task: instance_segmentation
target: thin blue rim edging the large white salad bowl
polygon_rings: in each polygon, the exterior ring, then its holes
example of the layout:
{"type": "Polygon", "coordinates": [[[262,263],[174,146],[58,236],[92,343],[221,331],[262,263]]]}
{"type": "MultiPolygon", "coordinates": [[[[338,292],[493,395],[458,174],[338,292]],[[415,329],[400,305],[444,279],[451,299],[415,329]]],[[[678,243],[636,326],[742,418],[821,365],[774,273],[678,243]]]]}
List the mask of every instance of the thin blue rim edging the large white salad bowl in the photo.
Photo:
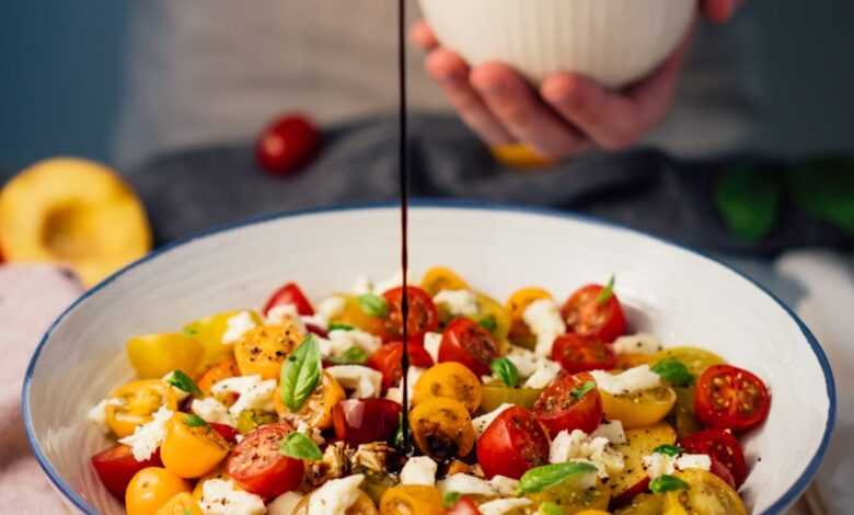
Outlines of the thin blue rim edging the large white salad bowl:
{"type": "MultiPolygon", "coordinates": [[[[614,224],[610,221],[605,221],[592,216],[588,215],[581,215],[578,213],[572,213],[572,211],[563,211],[555,208],[550,207],[541,207],[541,206],[524,206],[524,205],[518,205],[518,204],[504,204],[504,203],[495,203],[489,201],[477,201],[477,199],[448,199],[448,198],[416,198],[411,201],[411,206],[414,208],[452,208],[452,209],[470,209],[470,210],[498,210],[498,211],[506,211],[506,213],[522,213],[522,214],[530,214],[530,215],[542,215],[542,216],[550,216],[554,218],[568,218],[572,220],[577,221],[584,221],[589,224],[595,224],[599,226],[610,227],[610,228],[616,228],[622,229],[628,232],[633,232],[636,234],[644,236],[646,238],[650,238],[653,240],[659,241],[661,243],[665,243],[670,247],[674,247],[684,251],[688,251],[690,253],[700,255],[702,258],[705,258],[707,261],[715,263],[719,266],[723,266],[724,268],[729,270],[730,272],[735,273],[736,275],[747,279],[750,284],[752,284],[754,287],[759,288],[761,291],[763,291],[765,295],[768,295],[771,299],[773,299],[780,307],[782,307],[786,313],[797,323],[798,328],[800,329],[801,333],[804,334],[804,337],[809,343],[810,347],[812,348],[812,353],[816,355],[816,358],[819,362],[819,365],[821,365],[821,369],[824,374],[824,382],[828,393],[828,421],[827,425],[824,427],[824,434],[821,438],[821,444],[819,445],[819,448],[816,450],[816,454],[812,456],[812,458],[809,460],[809,464],[807,465],[804,472],[801,472],[800,477],[795,481],[795,484],[793,484],[786,493],[783,494],[782,497],[780,497],[777,501],[775,501],[768,510],[762,512],[761,515],[775,515],[781,513],[784,508],[790,506],[795,501],[797,501],[797,497],[809,487],[810,480],[816,476],[816,472],[818,471],[819,466],[821,465],[821,460],[824,457],[824,453],[827,451],[828,444],[830,443],[830,436],[833,432],[833,427],[835,424],[836,419],[836,389],[835,384],[833,379],[833,371],[830,367],[830,363],[828,362],[828,357],[824,354],[824,350],[821,347],[821,344],[819,344],[816,336],[812,334],[812,332],[807,328],[807,325],[800,320],[800,318],[795,314],[795,312],[786,306],[785,302],[783,302],[780,298],[777,298],[774,294],[765,289],[763,286],[761,286],[759,283],[753,281],[751,277],[747,276],[742,272],[734,268],[732,266],[708,255],[707,253],[692,249],[690,247],[677,243],[674,241],[670,241],[667,238],[661,238],[657,236],[649,234],[644,231],[639,231],[636,229],[632,229],[628,227],[625,227],[620,224],[614,224]]],[[[327,213],[337,213],[337,211],[360,211],[360,210],[368,210],[368,209],[388,209],[388,208],[394,208],[400,207],[400,204],[396,202],[380,202],[380,203],[362,203],[362,204],[343,204],[343,205],[335,205],[335,206],[325,206],[325,207],[313,207],[308,209],[297,209],[297,210],[286,210],[286,211],[278,211],[262,216],[252,217],[245,220],[227,224],[223,226],[215,227],[212,229],[208,229],[205,231],[197,232],[195,234],[192,234],[189,237],[176,240],[172,243],[169,243],[166,245],[161,247],[160,249],[152,251],[145,258],[135,261],[134,263],[128,264],[127,266],[123,267],[122,270],[115,272],[113,275],[108,276],[101,283],[99,283],[96,286],[92,287],[88,291],[85,291],[83,295],[81,295],[77,300],[74,300],[71,306],[66,308],[66,310],[57,317],[57,319],[50,324],[48,330],[45,332],[45,334],[42,336],[42,340],[38,342],[38,345],[36,346],[35,352],[33,353],[33,357],[30,359],[30,365],[26,368],[26,375],[24,376],[24,385],[23,385],[23,393],[22,393],[22,402],[21,402],[21,412],[24,420],[24,427],[26,430],[26,437],[30,442],[30,447],[33,449],[33,453],[35,454],[36,459],[38,460],[38,465],[42,467],[42,470],[45,471],[48,479],[54,483],[54,487],[57,488],[71,503],[79,508],[80,511],[86,513],[96,515],[97,512],[90,506],[77,492],[74,492],[60,477],[57,474],[57,472],[53,469],[50,466],[49,460],[42,451],[42,448],[39,447],[37,439],[34,435],[33,431],[33,420],[32,420],[32,413],[30,411],[30,385],[31,380],[33,378],[33,371],[35,370],[36,364],[38,363],[38,356],[42,353],[42,350],[44,348],[47,341],[50,339],[50,335],[54,333],[56,328],[62,322],[62,320],[66,318],[68,313],[74,310],[78,305],[85,301],[89,297],[95,295],[97,291],[100,291],[102,288],[114,282],[117,277],[125,274],[126,272],[136,268],[137,266],[152,261],[157,259],[159,255],[166,253],[171,251],[172,249],[175,249],[177,247],[183,247],[185,244],[188,244],[195,240],[207,238],[209,236],[218,234],[220,232],[226,232],[233,229],[240,229],[242,227],[252,226],[256,224],[264,224],[268,221],[275,221],[281,218],[292,218],[292,217],[299,217],[299,216],[307,216],[307,215],[316,215],[316,214],[327,214],[327,213]]]]}

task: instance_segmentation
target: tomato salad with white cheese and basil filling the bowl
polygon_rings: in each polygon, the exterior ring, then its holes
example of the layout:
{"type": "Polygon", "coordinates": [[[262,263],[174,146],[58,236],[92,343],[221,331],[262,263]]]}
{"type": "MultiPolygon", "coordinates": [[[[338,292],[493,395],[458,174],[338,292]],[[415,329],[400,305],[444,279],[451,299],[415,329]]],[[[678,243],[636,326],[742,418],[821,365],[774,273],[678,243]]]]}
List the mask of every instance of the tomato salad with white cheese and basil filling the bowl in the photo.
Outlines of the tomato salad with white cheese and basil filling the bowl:
{"type": "Polygon", "coordinates": [[[613,278],[501,305],[434,267],[407,342],[399,284],[315,305],[288,283],[130,339],[136,379],[89,412],[115,438],[97,477],[129,515],[747,513],[765,385],[630,333],[613,278]]]}

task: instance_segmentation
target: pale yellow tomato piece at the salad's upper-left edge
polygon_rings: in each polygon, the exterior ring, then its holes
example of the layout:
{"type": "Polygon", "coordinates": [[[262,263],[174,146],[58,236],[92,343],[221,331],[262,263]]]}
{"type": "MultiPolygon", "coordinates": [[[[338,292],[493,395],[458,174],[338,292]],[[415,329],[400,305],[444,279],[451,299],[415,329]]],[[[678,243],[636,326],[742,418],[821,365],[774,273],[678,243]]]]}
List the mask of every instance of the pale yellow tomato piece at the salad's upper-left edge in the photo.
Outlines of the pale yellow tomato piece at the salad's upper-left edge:
{"type": "Polygon", "coordinates": [[[128,340],[127,356],[140,379],[157,379],[172,370],[195,374],[205,347],[178,333],[145,334],[128,340]]]}

